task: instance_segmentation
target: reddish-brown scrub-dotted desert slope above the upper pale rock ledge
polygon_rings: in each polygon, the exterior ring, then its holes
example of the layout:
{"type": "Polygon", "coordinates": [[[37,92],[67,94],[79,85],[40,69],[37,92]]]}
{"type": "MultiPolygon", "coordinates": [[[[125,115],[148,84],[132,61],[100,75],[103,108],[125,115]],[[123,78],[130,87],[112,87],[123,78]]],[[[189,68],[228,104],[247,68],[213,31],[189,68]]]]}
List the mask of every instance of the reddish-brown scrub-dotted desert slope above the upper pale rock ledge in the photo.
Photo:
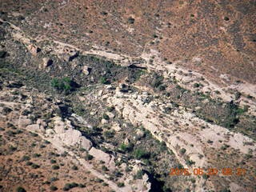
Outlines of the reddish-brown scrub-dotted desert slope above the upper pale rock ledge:
{"type": "Polygon", "coordinates": [[[12,1],[1,18],[38,41],[52,38],[86,50],[102,47],[140,57],[158,50],[216,82],[256,82],[256,5],[250,1],[12,1]]]}

